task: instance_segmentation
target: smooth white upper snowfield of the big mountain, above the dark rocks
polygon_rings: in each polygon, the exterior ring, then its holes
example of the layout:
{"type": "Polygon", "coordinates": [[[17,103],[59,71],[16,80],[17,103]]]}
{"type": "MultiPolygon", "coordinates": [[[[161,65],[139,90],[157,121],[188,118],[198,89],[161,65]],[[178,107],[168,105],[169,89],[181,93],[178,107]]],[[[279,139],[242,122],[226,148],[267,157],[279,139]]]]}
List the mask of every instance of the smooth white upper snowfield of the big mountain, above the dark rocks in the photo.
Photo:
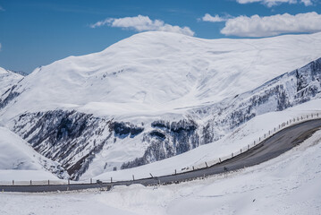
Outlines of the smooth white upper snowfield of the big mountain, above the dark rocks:
{"type": "Polygon", "coordinates": [[[321,33],[198,39],[144,32],[36,69],[3,118],[56,107],[117,118],[182,112],[255,89],[320,56],[321,33]]]}

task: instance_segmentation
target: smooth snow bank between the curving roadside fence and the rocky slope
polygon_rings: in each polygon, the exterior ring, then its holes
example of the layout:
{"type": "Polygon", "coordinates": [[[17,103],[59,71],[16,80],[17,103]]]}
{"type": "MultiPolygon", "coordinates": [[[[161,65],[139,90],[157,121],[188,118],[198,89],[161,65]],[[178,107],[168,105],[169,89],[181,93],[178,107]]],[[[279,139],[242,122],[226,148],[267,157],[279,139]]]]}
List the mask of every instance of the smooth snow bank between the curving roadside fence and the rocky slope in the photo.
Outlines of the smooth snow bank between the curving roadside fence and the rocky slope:
{"type": "Polygon", "coordinates": [[[137,168],[122,169],[118,171],[106,172],[97,176],[101,172],[103,164],[95,163],[89,167],[89,170],[81,176],[83,180],[89,180],[90,176],[95,179],[110,181],[131,180],[132,175],[136,179],[149,177],[149,173],[153,176],[171,175],[176,171],[186,171],[184,168],[204,168],[205,162],[208,165],[214,164],[219,158],[225,158],[233,152],[246,148],[248,144],[252,145],[254,141],[259,142],[259,138],[263,139],[268,131],[273,131],[275,126],[282,125],[290,119],[311,114],[319,113],[321,116],[321,99],[311,100],[296,107],[290,107],[283,111],[270,112],[261,116],[256,116],[249,122],[241,125],[233,133],[229,133],[217,142],[211,142],[201,145],[194,150],[189,150],[172,158],[163,159],[137,168]],[[183,169],[183,170],[182,170],[183,169]]]}

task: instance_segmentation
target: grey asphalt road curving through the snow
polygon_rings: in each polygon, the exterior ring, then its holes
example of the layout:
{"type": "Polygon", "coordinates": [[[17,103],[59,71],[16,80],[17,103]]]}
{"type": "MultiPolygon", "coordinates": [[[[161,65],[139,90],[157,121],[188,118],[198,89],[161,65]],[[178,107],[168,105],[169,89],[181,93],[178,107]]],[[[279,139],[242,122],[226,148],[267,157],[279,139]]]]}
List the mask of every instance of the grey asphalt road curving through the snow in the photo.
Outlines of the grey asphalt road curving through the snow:
{"type": "Polygon", "coordinates": [[[321,129],[321,119],[306,121],[297,125],[291,125],[284,128],[265,141],[258,143],[255,147],[245,152],[226,159],[221,163],[215,164],[208,168],[201,168],[184,172],[176,175],[149,177],[131,181],[119,181],[102,184],[78,184],[78,185],[0,185],[0,192],[55,192],[55,191],[72,191],[82,189],[106,189],[109,190],[114,185],[157,185],[173,184],[181,181],[187,181],[203,176],[211,176],[224,172],[246,168],[258,165],[269,159],[291,150],[304,140],[308,139],[313,133],[321,129]]]}

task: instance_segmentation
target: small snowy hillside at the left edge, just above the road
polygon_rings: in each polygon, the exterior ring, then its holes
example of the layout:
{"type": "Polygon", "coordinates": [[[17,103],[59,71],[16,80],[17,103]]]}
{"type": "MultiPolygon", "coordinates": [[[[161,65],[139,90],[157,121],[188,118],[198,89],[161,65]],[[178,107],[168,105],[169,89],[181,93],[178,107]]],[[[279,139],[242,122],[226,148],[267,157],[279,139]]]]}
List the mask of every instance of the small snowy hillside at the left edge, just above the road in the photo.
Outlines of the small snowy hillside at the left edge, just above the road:
{"type": "Polygon", "coordinates": [[[59,163],[39,155],[20,136],[0,126],[0,181],[56,180],[51,171],[60,170],[59,163]]]}

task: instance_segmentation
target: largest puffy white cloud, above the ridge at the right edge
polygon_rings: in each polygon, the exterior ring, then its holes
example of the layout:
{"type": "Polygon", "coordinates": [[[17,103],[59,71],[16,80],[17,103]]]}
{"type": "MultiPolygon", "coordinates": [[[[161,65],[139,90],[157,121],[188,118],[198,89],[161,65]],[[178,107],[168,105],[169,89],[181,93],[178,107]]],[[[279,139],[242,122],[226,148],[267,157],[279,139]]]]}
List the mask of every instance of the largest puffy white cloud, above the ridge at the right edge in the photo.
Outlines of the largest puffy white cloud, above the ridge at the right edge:
{"type": "Polygon", "coordinates": [[[224,35],[269,37],[283,33],[314,33],[321,31],[321,14],[289,13],[260,17],[238,16],[225,22],[224,35]]]}

